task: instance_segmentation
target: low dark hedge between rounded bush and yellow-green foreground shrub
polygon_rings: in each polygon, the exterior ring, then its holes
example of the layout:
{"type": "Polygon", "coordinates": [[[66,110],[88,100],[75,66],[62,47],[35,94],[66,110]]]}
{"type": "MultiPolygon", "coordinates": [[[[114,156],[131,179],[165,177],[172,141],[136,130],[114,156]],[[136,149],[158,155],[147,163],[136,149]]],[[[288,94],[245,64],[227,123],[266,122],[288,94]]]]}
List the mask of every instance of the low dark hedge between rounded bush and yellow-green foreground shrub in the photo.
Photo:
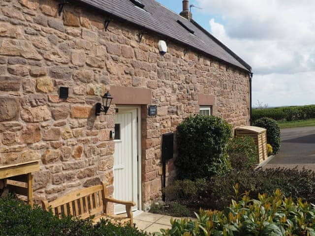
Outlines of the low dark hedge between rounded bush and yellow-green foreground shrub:
{"type": "Polygon", "coordinates": [[[231,170],[225,175],[195,181],[177,180],[164,191],[168,202],[179,202],[195,210],[199,207],[222,210],[229,205],[237,183],[240,191],[250,191],[252,198],[259,193],[272,194],[279,188],[286,197],[315,203],[315,172],[296,168],[231,170]]]}

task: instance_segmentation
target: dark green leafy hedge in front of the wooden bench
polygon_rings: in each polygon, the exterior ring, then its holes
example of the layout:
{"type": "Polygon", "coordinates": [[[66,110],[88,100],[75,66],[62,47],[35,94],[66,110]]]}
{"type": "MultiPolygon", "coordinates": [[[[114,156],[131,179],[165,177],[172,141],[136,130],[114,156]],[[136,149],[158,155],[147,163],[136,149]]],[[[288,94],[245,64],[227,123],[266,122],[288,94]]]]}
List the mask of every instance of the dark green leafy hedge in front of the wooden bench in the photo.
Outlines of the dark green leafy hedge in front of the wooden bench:
{"type": "Polygon", "coordinates": [[[1,236],[147,236],[130,226],[63,217],[38,206],[34,208],[12,197],[0,198],[1,236]]]}

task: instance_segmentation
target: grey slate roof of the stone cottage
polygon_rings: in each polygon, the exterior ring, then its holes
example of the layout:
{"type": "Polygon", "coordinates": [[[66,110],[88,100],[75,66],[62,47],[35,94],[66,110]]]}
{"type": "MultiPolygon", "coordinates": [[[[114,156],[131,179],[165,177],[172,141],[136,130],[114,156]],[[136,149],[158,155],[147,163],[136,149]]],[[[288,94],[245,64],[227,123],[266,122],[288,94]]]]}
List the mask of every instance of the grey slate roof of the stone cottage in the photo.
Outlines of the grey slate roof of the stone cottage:
{"type": "Polygon", "coordinates": [[[119,17],[144,29],[157,32],[158,34],[164,35],[190,48],[201,51],[219,60],[223,60],[243,70],[252,70],[250,65],[240,59],[196,22],[189,22],[187,19],[169,10],[155,0],[141,0],[145,5],[143,9],[135,6],[130,0],[79,1],[93,6],[106,14],[119,17]],[[178,20],[187,28],[193,30],[194,33],[190,33],[187,29],[181,26],[177,22],[178,20]]]}

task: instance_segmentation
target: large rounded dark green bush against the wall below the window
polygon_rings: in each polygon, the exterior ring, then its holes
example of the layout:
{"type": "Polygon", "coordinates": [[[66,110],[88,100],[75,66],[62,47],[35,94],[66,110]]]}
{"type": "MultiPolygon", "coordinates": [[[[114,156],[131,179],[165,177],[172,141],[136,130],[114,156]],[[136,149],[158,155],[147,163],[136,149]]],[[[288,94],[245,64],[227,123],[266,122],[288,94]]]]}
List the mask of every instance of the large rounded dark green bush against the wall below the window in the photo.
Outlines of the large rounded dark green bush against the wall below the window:
{"type": "Polygon", "coordinates": [[[195,179],[223,173],[229,167],[226,144],[231,126],[213,116],[186,118],[177,127],[178,167],[180,179],[195,179]]]}

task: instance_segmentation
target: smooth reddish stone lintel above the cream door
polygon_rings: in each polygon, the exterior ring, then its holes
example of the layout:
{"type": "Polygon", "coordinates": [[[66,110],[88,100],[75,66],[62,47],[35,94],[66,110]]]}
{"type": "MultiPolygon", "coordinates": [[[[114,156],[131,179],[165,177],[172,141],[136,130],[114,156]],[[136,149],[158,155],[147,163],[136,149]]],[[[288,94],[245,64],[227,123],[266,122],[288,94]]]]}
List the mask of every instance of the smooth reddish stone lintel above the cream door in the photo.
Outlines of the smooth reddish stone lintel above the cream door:
{"type": "Polygon", "coordinates": [[[152,102],[151,89],[111,86],[110,94],[114,98],[113,104],[146,105],[152,102]]]}

